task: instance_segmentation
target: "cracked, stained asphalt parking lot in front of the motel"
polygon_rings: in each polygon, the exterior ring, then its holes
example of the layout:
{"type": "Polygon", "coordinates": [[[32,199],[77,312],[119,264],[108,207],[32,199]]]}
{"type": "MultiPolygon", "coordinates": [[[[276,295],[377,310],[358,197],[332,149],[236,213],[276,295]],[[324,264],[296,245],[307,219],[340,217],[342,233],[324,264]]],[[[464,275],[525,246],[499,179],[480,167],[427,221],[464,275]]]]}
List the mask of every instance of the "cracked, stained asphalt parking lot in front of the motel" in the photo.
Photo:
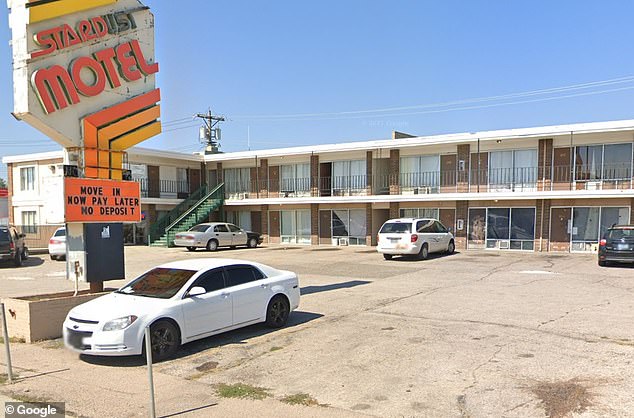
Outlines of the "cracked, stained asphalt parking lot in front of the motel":
{"type": "MultiPolygon", "coordinates": [[[[293,270],[302,300],[286,328],[210,337],[156,366],[181,384],[244,383],[328,405],[307,416],[633,416],[634,268],[600,268],[594,255],[468,251],[384,261],[352,247],[127,247],[127,276],[194,257],[293,270]]],[[[43,255],[2,266],[0,297],[71,289],[63,272],[43,255]]],[[[55,356],[60,369],[144,376],[135,360],[55,356]]],[[[21,384],[64,396],[36,380],[21,384]]],[[[82,400],[72,402],[81,414],[82,400]]]]}

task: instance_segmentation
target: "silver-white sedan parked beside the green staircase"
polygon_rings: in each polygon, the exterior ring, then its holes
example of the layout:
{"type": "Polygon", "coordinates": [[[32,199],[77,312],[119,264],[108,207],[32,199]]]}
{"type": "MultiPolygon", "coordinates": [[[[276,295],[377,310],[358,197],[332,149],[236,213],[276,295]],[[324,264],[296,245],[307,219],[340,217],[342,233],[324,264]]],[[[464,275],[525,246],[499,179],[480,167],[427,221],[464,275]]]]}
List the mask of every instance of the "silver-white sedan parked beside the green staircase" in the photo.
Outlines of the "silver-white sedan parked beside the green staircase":
{"type": "Polygon", "coordinates": [[[257,232],[245,231],[226,222],[198,224],[189,231],[179,232],[174,236],[174,245],[187,247],[189,251],[206,248],[216,251],[218,247],[237,247],[246,245],[255,248],[262,243],[262,236],[257,232]]]}

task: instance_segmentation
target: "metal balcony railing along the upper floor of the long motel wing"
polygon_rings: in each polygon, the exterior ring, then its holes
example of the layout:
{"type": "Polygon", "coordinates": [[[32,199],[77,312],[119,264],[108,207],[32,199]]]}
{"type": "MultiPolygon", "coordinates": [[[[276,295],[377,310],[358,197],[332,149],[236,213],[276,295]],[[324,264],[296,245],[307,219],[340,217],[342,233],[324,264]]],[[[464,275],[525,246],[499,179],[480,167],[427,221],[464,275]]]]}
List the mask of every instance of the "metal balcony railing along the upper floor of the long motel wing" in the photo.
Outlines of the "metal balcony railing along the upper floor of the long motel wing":
{"type": "Polygon", "coordinates": [[[227,199],[634,188],[628,165],[535,166],[225,182],[227,199]]]}

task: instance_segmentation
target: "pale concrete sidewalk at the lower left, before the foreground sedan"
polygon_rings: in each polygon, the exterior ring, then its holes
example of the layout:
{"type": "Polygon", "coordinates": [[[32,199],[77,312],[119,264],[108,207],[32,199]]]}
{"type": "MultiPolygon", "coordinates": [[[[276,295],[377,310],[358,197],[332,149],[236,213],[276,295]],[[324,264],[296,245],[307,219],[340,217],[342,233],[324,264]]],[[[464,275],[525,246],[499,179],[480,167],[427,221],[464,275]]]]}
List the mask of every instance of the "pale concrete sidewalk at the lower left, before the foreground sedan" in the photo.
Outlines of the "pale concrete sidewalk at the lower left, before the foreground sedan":
{"type": "MultiPolygon", "coordinates": [[[[18,379],[12,385],[0,385],[0,404],[14,397],[65,402],[66,410],[76,416],[149,414],[147,367],[140,358],[80,358],[59,341],[13,344],[11,355],[18,379]]],[[[0,367],[6,371],[4,362],[0,367]]],[[[157,416],[361,416],[328,407],[288,405],[272,398],[263,401],[219,398],[211,385],[161,372],[169,367],[169,361],[154,365],[157,416]]]]}

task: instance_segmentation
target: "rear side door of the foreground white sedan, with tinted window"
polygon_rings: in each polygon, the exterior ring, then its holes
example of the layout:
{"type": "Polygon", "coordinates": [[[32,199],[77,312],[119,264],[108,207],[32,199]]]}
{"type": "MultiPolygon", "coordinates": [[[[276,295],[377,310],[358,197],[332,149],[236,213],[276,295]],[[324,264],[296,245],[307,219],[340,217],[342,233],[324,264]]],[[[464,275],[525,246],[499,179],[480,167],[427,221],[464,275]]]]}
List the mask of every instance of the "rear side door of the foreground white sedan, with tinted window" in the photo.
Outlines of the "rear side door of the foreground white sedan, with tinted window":
{"type": "Polygon", "coordinates": [[[233,296],[233,324],[263,321],[271,290],[264,275],[252,266],[226,268],[227,291],[233,296]]]}

